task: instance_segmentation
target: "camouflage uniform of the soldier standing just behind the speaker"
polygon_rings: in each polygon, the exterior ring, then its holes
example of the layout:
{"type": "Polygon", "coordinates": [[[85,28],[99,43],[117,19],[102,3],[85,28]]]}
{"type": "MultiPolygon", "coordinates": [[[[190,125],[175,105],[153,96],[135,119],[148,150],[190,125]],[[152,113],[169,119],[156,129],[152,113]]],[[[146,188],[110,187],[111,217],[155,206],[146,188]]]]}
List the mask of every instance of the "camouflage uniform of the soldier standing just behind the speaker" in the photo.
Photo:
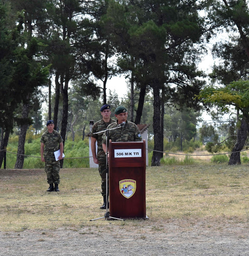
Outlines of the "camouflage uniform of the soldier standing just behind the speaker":
{"type": "Polygon", "coordinates": [[[92,126],[92,131],[90,133],[90,136],[93,138],[96,138],[97,140],[97,158],[99,161],[99,173],[101,177],[101,189],[102,189],[102,196],[106,196],[106,153],[104,152],[102,148],[102,135],[103,133],[94,134],[95,132],[101,132],[106,130],[106,128],[109,126],[109,124],[114,123],[115,120],[110,119],[110,122],[104,122],[103,118],[96,122],[92,126]]]}

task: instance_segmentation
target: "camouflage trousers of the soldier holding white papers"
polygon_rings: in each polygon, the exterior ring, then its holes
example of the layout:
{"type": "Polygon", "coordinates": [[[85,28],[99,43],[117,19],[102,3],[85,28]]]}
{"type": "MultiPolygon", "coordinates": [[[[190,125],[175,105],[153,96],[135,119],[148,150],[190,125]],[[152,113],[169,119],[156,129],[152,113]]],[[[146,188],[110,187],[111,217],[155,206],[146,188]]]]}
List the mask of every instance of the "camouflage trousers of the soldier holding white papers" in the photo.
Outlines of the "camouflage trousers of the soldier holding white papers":
{"type": "Polygon", "coordinates": [[[60,183],[60,161],[56,161],[54,156],[44,156],[45,172],[47,174],[48,184],[60,183]]]}

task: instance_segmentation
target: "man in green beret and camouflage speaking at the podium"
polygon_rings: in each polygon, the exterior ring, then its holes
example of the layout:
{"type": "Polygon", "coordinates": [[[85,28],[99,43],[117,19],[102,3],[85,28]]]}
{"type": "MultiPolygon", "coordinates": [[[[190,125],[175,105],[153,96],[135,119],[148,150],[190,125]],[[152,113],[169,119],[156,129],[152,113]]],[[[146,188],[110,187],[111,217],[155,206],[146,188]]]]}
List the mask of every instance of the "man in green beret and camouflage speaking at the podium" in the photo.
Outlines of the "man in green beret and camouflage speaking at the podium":
{"type": "MultiPolygon", "coordinates": [[[[112,129],[118,127],[118,125],[125,123],[122,128],[114,129],[109,131],[109,140],[112,142],[132,142],[132,141],[142,141],[142,137],[140,134],[139,129],[137,128],[136,124],[133,122],[127,121],[127,110],[123,106],[119,106],[115,110],[115,116],[118,120],[110,124],[107,129],[112,129]]],[[[107,143],[108,143],[107,142],[107,143]]],[[[107,145],[108,146],[108,145],[107,145]]],[[[102,147],[104,152],[106,152],[106,134],[102,136],[102,147]]]]}

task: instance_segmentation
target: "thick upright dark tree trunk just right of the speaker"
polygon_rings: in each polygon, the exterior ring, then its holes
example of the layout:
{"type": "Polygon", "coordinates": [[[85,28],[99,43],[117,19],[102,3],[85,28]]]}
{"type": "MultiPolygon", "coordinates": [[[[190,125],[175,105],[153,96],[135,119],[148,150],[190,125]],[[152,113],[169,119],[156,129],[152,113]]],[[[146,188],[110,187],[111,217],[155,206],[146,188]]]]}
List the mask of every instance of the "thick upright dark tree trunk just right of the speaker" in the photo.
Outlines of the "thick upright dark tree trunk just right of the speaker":
{"type": "MultiPolygon", "coordinates": [[[[160,134],[160,95],[159,95],[159,86],[158,82],[155,82],[153,85],[153,96],[154,96],[154,114],[153,114],[153,133],[154,133],[154,150],[161,151],[161,144],[163,144],[161,140],[160,134]]],[[[153,151],[151,166],[160,166],[160,158],[161,152],[153,151]]]]}

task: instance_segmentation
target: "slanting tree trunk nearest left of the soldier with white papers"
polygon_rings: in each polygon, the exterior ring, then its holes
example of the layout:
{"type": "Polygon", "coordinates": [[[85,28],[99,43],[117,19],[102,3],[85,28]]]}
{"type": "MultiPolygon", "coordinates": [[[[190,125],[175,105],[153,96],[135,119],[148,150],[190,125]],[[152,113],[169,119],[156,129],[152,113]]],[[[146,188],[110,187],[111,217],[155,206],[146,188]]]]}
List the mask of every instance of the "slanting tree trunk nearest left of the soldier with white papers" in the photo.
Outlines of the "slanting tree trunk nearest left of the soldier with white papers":
{"type": "MultiPolygon", "coordinates": [[[[29,112],[29,104],[24,103],[22,106],[22,119],[27,120],[28,119],[28,112],[29,112]]],[[[28,124],[27,122],[25,124],[22,124],[20,127],[20,135],[19,135],[19,140],[18,140],[18,149],[17,149],[17,156],[16,156],[16,164],[15,164],[15,169],[22,169],[23,163],[24,163],[24,144],[25,144],[25,138],[26,138],[26,133],[28,129],[28,124]]]]}

